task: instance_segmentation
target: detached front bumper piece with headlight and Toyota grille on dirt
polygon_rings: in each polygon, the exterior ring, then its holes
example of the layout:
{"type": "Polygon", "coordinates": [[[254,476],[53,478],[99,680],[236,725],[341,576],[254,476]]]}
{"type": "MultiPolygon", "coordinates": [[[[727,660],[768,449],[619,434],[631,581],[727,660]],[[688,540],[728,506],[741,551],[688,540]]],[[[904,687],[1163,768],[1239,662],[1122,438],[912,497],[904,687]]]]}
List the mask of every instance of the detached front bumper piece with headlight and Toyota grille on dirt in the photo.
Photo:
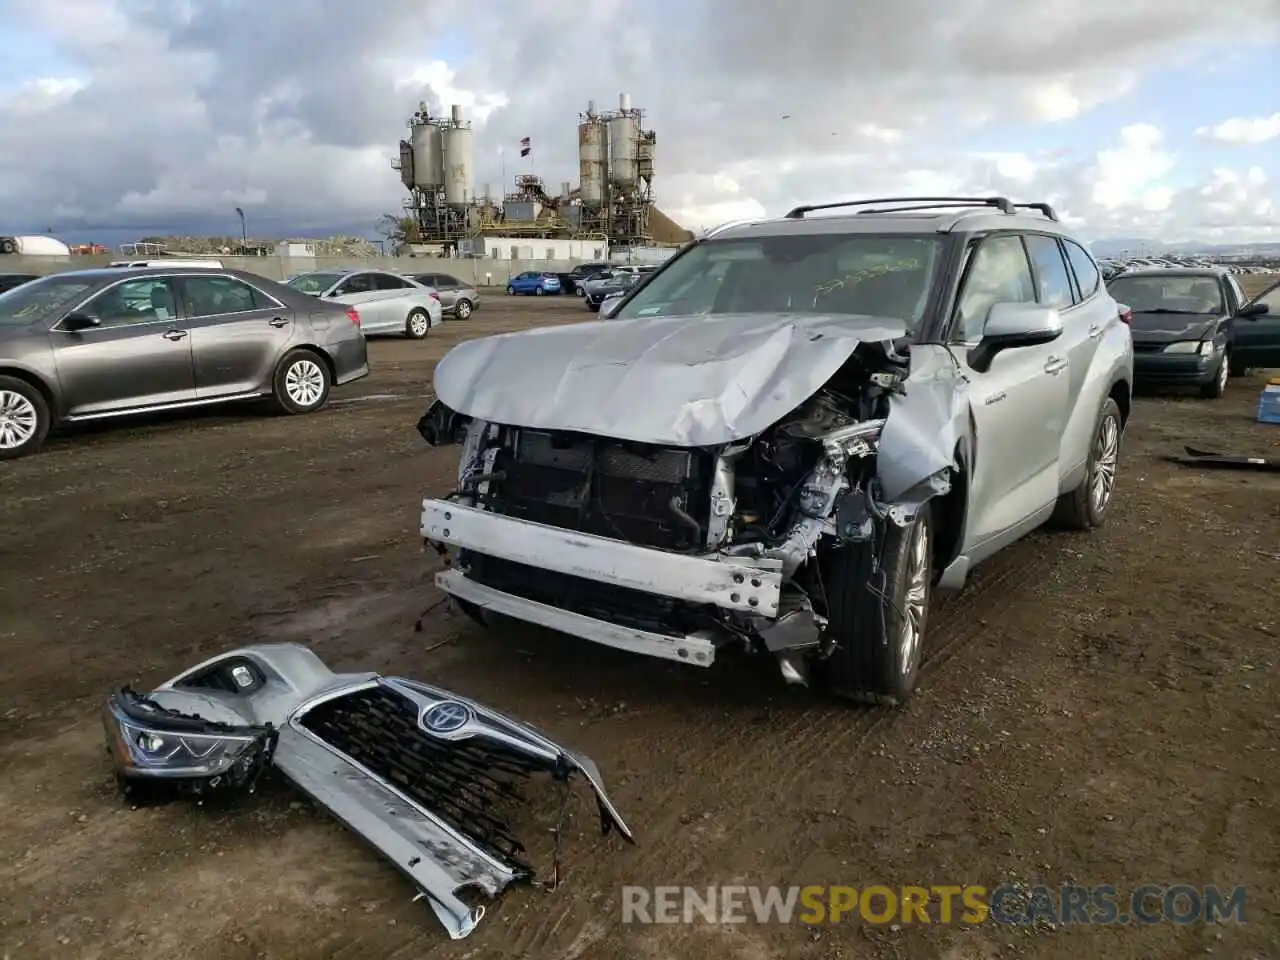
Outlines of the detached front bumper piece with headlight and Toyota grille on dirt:
{"type": "Polygon", "coordinates": [[[128,795],[247,794],[278,771],[399,869],[454,940],[484,916],[472,892],[535,879],[521,826],[536,780],[561,794],[550,886],[575,774],[602,832],[635,842],[586,756],[428,684],[333,673],[297,644],[232,650],[147,694],[123,687],[102,721],[128,795]]]}

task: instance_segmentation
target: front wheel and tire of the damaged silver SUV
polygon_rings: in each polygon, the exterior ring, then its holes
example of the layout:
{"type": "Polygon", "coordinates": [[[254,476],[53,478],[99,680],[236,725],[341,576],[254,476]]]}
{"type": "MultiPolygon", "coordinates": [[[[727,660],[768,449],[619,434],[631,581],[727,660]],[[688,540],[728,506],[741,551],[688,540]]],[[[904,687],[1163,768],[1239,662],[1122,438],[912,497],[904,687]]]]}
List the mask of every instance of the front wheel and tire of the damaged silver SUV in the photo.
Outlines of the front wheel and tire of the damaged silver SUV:
{"type": "Polygon", "coordinates": [[[860,703],[901,705],[915,691],[933,589],[933,511],[906,527],[886,521],[865,544],[819,554],[827,590],[827,636],[835,649],[818,664],[822,684],[860,703]],[[879,549],[876,562],[872,544],[879,549]]]}

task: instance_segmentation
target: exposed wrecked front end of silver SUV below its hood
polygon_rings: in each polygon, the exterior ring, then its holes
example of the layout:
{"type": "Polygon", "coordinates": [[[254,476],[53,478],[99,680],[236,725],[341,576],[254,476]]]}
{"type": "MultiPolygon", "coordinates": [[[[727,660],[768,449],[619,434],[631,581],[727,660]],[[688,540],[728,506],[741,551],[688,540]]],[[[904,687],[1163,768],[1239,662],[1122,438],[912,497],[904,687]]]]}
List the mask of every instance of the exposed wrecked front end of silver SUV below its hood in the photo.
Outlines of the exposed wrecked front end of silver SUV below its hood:
{"type": "MultiPolygon", "coordinates": [[[[652,637],[704,637],[712,646],[741,641],[774,653],[788,681],[805,682],[804,663],[791,654],[822,659],[832,648],[824,635],[831,604],[822,564],[810,561],[855,543],[874,553],[886,525],[909,524],[923,502],[948,489],[942,470],[929,477],[923,497],[918,490],[914,499],[882,502],[877,452],[892,415],[891,398],[902,396],[908,371],[908,357],[892,342],[859,344],[788,415],[755,435],[712,447],[484,422],[436,401],[419,424],[424,439],[462,443],[458,489],[424,503],[424,538],[451,566],[438,580],[472,616],[480,607],[497,609],[502,595],[639,631],[635,636],[648,646],[636,649],[658,655],[667,654],[652,637]],[[440,506],[445,503],[456,509],[440,506]],[[495,538],[489,548],[488,534],[479,529],[475,535],[457,530],[462,517],[488,522],[472,511],[538,525],[521,527],[538,538],[536,548],[530,540],[521,553],[511,538],[495,538]],[[724,585],[717,576],[705,589],[667,588],[657,573],[621,573],[622,557],[602,545],[600,557],[579,572],[581,557],[556,559],[559,550],[541,539],[541,527],[668,558],[744,567],[724,585]],[[492,593],[463,595],[477,588],[492,593]],[[759,595],[749,595],[751,588],[759,595]]],[[[627,567],[631,562],[627,554],[627,567]]],[[[687,570],[692,577],[717,572],[687,570]]],[[[547,614],[535,622],[611,643],[594,627],[584,632],[589,627],[577,620],[547,614]]],[[[710,662],[699,648],[677,645],[673,655],[710,662]]]]}

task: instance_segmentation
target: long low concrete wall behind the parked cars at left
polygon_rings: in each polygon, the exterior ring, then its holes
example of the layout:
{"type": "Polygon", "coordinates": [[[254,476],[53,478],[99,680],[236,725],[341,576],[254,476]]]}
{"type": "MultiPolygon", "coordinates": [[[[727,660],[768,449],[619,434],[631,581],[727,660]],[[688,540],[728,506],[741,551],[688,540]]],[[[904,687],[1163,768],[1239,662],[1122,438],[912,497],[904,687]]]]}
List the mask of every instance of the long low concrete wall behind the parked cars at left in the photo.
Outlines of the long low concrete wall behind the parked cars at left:
{"type": "MultiPolygon", "coordinates": [[[[52,274],[64,270],[86,270],[93,266],[106,266],[120,256],[76,256],[76,257],[24,257],[0,256],[0,273],[12,274],[52,274]]],[[[508,278],[525,270],[547,270],[568,273],[579,260],[440,260],[435,257],[218,257],[223,266],[247,270],[259,276],[283,280],[294,274],[310,270],[334,268],[365,268],[371,270],[392,270],[401,274],[442,273],[457,276],[460,280],[477,285],[493,284],[502,287],[508,278]]]]}

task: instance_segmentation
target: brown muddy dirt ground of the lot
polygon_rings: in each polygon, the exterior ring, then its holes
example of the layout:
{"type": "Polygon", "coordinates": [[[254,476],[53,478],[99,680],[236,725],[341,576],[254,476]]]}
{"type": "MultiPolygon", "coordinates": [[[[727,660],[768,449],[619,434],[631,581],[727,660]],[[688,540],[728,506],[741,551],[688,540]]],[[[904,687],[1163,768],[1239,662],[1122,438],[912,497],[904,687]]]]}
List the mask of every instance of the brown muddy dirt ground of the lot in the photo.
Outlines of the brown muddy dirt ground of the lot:
{"type": "Polygon", "coordinates": [[[1107,526],[991,561],[933,611],[918,698],[861,709],[764,663],[652,663],[438,603],[417,513],[456,454],[415,431],[434,361],[588,316],[492,297],[425,342],[374,342],[372,375],[323,413],[82,429],[0,466],[0,956],[1280,956],[1280,477],[1160,460],[1280,456],[1261,375],[1219,402],[1140,398],[1107,526]],[[580,805],[564,884],[508,891],[453,943],[284,785],[227,809],[122,801],[104,694],[264,640],[541,726],[600,764],[639,845],[580,805]],[[623,884],[1011,879],[1244,884],[1248,922],[621,923],[623,884]]]}

